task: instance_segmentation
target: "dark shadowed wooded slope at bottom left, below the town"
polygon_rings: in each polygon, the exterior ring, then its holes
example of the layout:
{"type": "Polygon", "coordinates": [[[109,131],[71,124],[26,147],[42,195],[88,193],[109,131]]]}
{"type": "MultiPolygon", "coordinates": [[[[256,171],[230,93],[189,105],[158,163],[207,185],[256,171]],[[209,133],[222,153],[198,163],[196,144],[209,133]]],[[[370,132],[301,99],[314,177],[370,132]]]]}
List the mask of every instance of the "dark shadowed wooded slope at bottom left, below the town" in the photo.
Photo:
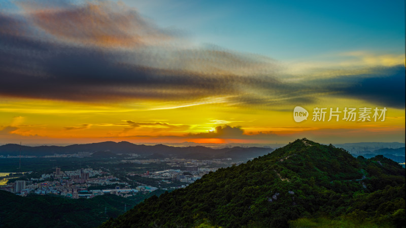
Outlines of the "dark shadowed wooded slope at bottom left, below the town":
{"type": "Polygon", "coordinates": [[[0,191],[0,227],[95,227],[117,217],[151,196],[163,191],[133,197],[116,195],[92,199],[67,199],[54,195],[20,197],[0,191]]]}

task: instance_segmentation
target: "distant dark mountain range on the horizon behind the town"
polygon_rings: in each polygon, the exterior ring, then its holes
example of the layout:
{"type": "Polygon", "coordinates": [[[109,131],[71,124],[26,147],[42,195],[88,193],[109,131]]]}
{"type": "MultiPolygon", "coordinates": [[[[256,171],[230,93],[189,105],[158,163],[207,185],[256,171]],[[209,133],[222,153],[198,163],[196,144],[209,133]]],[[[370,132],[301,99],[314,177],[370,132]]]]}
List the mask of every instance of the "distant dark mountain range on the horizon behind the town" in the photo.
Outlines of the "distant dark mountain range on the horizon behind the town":
{"type": "MultiPolygon", "coordinates": [[[[175,147],[167,145],[137,145],[130,142],[98,142],[89,144],[73,144],[67,146],[20,146],[18,144],[6,144],[0,146],[0,155],[3,156],[47,156],[55,154],[77,154],[81,151],[95,153],[108,151],[112,154],[138,154],[148,158],[194,158],[194,159],[249,159],[266,155],[272,152],[272,148],[264,147],[239,147],[213,149],[205,146],[175,147]]],[[[104,153],[106,154],[106,153],[104,153]]]]}

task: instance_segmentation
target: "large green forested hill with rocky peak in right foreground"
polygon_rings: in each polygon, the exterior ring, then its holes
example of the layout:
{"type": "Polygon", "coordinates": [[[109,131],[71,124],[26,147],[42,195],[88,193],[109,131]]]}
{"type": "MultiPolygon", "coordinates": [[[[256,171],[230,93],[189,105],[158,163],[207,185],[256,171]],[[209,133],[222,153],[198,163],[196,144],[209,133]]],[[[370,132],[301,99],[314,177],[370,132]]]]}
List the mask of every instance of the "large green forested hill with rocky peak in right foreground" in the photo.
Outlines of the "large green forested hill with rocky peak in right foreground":
{"type": "Polygon", "coordinates": [[[404,226],[405,172],[383,156],[298,139],[186,188],[151,197],[104,227],[404,226]]]}

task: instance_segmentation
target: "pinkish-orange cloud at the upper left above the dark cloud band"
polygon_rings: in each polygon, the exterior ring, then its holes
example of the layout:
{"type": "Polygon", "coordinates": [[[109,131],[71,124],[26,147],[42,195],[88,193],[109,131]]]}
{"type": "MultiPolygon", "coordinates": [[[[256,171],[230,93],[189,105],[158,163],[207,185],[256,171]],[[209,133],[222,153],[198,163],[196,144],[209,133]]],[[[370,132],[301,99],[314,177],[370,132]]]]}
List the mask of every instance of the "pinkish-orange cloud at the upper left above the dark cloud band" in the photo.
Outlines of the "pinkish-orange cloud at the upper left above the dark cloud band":
{"type": "Polygon", "coordinates": [[[171,39],[170,31],[157,28],[137,11],[109,1],[79,5],[56,2],[18,2],[27,18],[58,41],[101,47],[138,47],[171,39]]]}

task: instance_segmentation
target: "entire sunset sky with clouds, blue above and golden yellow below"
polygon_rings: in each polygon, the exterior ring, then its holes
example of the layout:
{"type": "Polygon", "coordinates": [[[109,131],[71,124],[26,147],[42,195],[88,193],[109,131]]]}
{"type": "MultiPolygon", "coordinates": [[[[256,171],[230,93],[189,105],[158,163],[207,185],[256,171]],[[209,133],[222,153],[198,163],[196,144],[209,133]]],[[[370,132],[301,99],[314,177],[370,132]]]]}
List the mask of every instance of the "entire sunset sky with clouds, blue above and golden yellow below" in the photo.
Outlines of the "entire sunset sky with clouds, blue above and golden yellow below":
{"type": "Polygon", "coordinates": [[[0,144],[404,142],[404,7],[0,0],[0,144]]]}

